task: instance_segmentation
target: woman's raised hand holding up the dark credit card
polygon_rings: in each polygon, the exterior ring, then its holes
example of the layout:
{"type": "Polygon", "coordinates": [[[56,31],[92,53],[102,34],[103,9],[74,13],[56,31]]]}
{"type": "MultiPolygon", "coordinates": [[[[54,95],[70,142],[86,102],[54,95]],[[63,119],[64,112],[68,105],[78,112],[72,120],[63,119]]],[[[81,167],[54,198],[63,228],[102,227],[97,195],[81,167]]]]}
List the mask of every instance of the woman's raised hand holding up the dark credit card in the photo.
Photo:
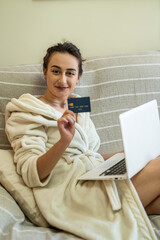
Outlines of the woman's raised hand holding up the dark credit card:
{"type": "Polygon", "coordinates": [[[58,119],[58,129],[61,135],[61,140],[64,141],[65,144],[69,145],[74,133],[75,133],[75,122],[76,115],[74,112],[70,110],[66,110],[62,117],[58,119]]]}

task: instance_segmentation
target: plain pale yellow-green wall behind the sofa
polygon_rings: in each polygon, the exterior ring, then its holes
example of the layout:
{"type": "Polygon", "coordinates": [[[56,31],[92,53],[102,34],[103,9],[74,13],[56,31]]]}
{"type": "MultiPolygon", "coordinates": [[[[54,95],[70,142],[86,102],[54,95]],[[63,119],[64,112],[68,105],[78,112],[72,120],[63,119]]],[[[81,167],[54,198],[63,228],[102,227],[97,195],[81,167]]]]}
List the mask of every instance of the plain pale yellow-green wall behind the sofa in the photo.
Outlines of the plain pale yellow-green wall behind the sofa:
{"type": "Polygon", "coordinates": [[[0,65],[41,62],[48,46],[84,57],[160,49],[160,0],[0,0],[0,65]]]}

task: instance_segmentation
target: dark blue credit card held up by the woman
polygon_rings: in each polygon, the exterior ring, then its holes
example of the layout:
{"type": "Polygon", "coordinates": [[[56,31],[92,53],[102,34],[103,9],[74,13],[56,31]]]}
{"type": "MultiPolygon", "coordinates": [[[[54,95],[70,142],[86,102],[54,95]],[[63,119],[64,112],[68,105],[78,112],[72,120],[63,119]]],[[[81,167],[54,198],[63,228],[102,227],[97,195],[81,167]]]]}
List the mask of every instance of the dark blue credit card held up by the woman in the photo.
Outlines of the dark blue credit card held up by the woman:
{"type": "Polygon", "coordinates": [[[91,112],[90,97],[69,98],[68,109],[74,113],[91,112]]]}

